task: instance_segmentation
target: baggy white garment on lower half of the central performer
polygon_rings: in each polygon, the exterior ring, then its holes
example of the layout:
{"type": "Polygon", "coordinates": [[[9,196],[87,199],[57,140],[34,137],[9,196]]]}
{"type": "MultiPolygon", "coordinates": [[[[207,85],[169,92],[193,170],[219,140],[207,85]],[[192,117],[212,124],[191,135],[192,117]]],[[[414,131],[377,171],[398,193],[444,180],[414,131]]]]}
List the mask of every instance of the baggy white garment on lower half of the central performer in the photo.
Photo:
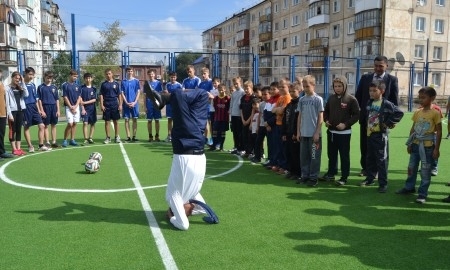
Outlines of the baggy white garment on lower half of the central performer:
{"type": "MultiPolygon", "coordinates": [[[[184,210],[184,204],[190,199],[205,202],[200,189],[206,172],[206,156],[203,155],[173,155],[172,168],[166,190],[166,201],[173,212],[170,222],[180,230],[189,228],[189,220],[184,210]]],[[[195,206],[193,214],[204,213],[195,206]]]]}

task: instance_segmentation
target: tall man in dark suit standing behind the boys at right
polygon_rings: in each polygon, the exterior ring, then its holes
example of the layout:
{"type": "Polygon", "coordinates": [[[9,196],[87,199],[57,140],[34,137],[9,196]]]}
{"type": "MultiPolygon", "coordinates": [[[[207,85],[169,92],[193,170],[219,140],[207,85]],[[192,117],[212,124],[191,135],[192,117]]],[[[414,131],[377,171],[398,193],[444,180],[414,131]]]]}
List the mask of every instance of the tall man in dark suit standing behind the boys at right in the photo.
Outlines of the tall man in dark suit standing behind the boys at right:
{"type": "Polygon", "coordinates": [[[387,74],[388,59],[385,56],[377,56],[374,59],[374,72],[361,76],[355,97],[361,108],[359,114],[360,128],[360,149],[361,149],[361,176],[366,176],[366,153],[367,153],[367,103],[370,99],[369,84],[372,81],[383,80],[386,84],[386,90],[383,97],[398,106],[398,79],[387,74]]]}

